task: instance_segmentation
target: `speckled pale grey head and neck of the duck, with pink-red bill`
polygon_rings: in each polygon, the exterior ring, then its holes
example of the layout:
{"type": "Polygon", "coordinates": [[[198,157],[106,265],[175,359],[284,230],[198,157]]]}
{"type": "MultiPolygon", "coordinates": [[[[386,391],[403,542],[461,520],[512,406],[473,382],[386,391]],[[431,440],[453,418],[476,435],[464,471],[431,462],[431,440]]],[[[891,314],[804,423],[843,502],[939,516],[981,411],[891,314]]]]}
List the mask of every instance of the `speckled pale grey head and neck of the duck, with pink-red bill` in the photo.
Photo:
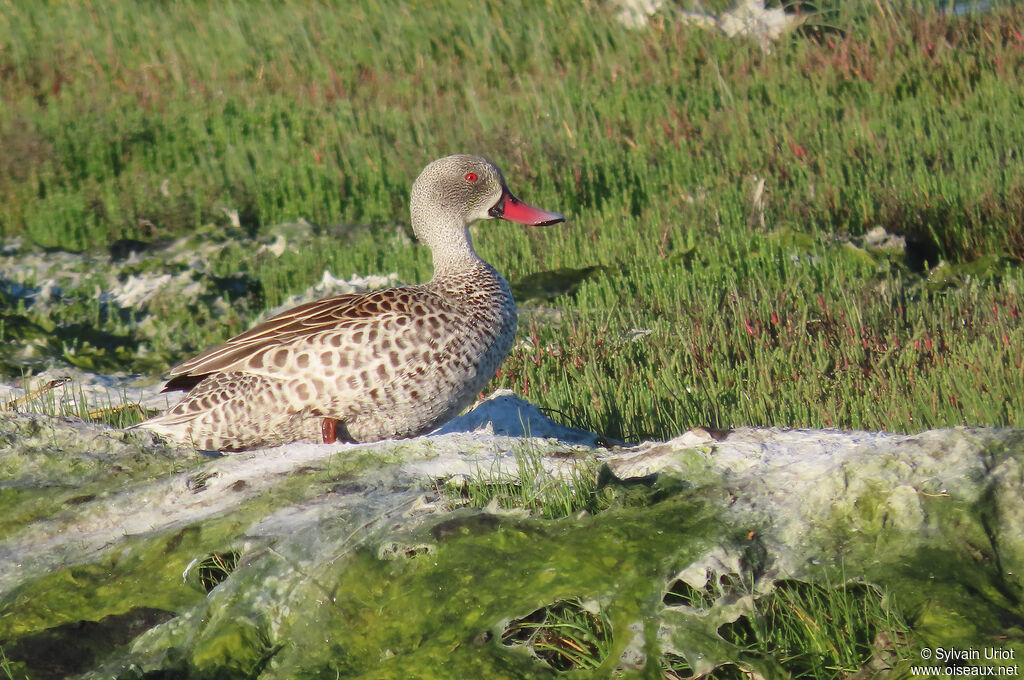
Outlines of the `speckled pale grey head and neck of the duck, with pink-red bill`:
{"type": "Polygon", "coordinates": [[[424,168],[413,183],[410,211],[416,238],[434,254],[435,274],[476,259],[469,225],[477,220],[499,217],[531,226],[565,220],[517,199],[494,163],[468,154],[446,156],[424,168]]]}

